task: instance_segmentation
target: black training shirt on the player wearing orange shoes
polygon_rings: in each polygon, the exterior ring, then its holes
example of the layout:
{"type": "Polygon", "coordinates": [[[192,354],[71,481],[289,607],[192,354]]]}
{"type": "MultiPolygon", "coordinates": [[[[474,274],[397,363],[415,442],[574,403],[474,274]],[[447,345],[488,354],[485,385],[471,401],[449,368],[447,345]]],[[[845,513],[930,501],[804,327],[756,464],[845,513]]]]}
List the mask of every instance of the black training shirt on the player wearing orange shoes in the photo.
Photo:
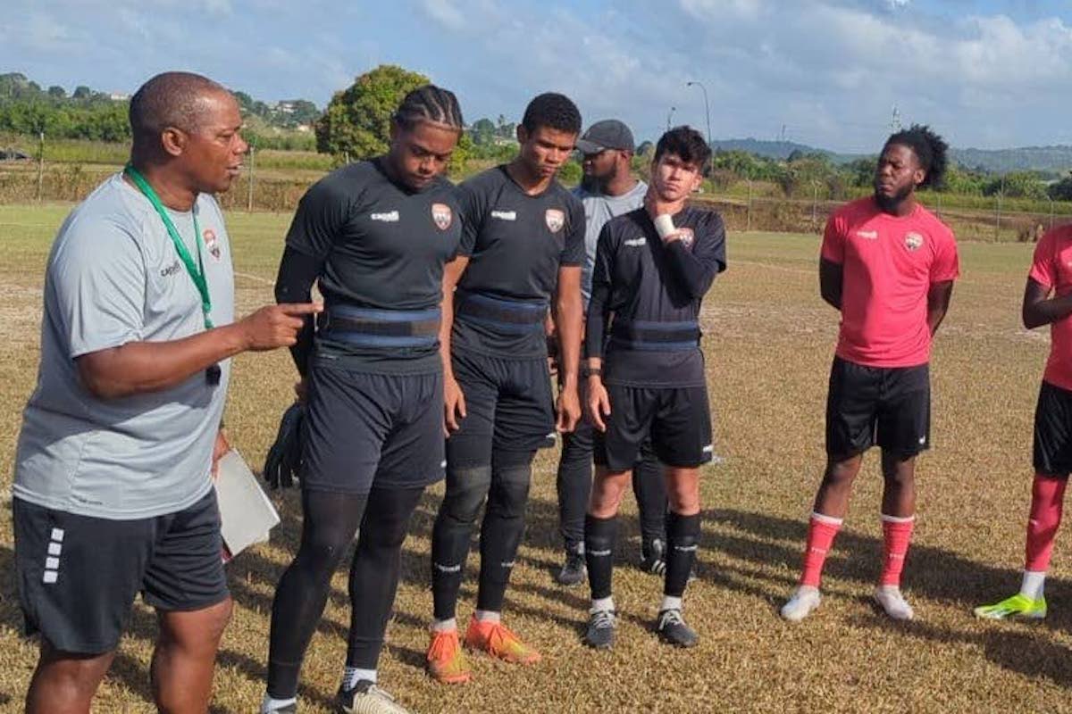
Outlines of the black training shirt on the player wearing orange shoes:
{"type": "MultiPolygon", "coordinates": [[[[459,291],[549,305],[562,267],[584,263],[584,206],[557,181],[536,196],[496,166],[458,186],[462,212],[459,255],[470,263],[459,291]]],[[[459,295],[456,295],[456,313],[459,295]]],[[[498,356],[540,358],[542,330],[525,334],[455,316],[451,348],[498,356]]]]}

